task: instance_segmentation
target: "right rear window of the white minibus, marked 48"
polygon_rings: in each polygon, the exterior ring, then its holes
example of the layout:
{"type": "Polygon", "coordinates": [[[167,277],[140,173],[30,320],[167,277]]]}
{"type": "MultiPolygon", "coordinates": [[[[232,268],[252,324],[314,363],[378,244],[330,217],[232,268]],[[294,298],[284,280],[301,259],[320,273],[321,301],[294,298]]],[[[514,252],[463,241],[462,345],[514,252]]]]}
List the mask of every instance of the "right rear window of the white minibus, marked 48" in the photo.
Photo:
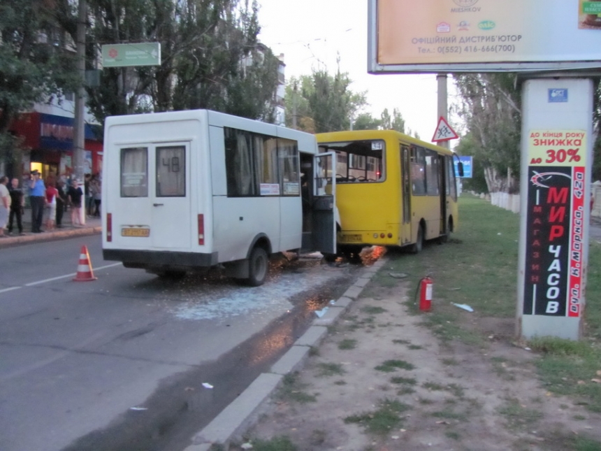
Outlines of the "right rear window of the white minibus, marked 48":
{"type": "Polygon", "coordinates": [[[157,147],[157,197],[186,195],[186,148],[157,147]]]}

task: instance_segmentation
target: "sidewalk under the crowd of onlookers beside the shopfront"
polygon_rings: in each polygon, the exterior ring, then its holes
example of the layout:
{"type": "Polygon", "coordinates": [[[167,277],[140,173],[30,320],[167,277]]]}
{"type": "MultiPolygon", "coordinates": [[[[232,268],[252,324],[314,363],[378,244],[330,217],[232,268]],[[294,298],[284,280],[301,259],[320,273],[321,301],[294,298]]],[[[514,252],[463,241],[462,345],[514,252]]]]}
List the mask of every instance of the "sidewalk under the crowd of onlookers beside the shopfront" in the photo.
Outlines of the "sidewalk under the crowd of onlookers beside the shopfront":
{"type": "MultiPolygon", "coordinates": [[[[22,245],[34,243],[36,241],[50,241],[61,238],[69,238],[71,236],[100,234],[102,231],[101,217],[86,217],[85,224],[81,227],[75,227],[71,224],[71,212],[66,211],[63,215],[62,227],[52,231],[43,231],[41,234],[31,233],[31,208],[25,208],[23,215],[23,232],[24,235],[18,234],[17,224],[13,224],[13,234],[8,235],[5,229],[6,238],[0,238],[0,248],[8,248],[13,245],[22,245]]],[[[44,227],[42,225],[42,230],[44,227]]]]}

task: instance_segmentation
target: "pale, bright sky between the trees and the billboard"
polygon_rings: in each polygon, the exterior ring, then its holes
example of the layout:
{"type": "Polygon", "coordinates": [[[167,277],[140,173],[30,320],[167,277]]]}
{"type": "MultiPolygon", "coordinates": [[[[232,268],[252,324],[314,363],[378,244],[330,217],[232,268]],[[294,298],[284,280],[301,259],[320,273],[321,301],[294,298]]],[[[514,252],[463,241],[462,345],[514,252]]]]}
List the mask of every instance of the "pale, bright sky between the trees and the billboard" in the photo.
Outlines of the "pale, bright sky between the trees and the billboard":
{"type": "MultiPolygon", "coordinates": [[[[287,80],[313,69],[340,71],[354,82],[351,90],[367,91],[367,112],[379,117],[384,108],[398,108],[405,131],[430,141],[438,123],[435,74],[368,73],[367,0],[257,0],[261,43],[284,54],[287,80]]],[[[452,90],[449,76],[447,89],[452,90]]],[[[452,101],[449,99],[449,106],[452,101]]],[[[459,131],[458,131],[459,132],[459,131]]]]}

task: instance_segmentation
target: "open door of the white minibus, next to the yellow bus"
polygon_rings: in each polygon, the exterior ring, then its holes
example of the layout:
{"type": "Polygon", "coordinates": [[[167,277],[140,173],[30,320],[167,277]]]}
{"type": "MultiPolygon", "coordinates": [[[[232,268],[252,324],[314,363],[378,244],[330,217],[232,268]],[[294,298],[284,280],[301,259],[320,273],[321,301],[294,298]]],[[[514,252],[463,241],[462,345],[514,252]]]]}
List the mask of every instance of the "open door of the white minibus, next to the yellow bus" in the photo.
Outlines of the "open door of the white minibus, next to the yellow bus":
{"type": "Polygon", "coordinates": [[[313,157],[312,236],[314,250],[336,253],[336,178],[335,152],[313,157]]]}

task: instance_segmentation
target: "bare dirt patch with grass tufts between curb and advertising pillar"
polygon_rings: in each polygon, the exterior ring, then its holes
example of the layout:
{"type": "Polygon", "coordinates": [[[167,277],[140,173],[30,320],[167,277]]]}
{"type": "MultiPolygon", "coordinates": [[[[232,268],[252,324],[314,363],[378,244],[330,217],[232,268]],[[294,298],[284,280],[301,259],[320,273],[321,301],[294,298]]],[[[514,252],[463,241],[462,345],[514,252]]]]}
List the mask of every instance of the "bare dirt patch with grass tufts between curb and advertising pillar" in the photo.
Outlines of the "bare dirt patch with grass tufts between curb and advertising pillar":
{"type": "MultiPolygon", "coordinates": [[[[461,315],[481,336],[440,343],[407,287],[373,288],[273,396],[246,435],[296,450],[594,450],[601,415],[547,392],[513,322],[461,315]],[[328,368],[329,371],[324,371],[328,368]]],[[[231,450],[240,450],[240,444],[231,450]]],[[[275,448],[270,448],[275,449],[275,448]]]]}

